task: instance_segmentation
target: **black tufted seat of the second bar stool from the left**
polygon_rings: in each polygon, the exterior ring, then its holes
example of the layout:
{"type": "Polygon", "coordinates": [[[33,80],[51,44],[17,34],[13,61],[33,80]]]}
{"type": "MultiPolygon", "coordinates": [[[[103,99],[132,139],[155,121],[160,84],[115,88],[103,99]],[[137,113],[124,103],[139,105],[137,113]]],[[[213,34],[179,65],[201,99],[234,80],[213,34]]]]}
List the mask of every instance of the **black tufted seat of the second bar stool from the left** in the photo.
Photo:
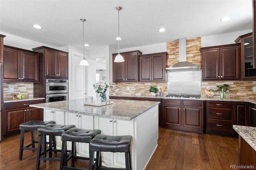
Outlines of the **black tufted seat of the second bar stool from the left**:
{"type": "Polygon", "coordinates": [[[41,128],[38,128],[37,135],[52,135],[52,136],[61,136],[63,132],[70,128],[74,128],[74,125],[60,125],[60,124],[47,124],[41,128]]]}

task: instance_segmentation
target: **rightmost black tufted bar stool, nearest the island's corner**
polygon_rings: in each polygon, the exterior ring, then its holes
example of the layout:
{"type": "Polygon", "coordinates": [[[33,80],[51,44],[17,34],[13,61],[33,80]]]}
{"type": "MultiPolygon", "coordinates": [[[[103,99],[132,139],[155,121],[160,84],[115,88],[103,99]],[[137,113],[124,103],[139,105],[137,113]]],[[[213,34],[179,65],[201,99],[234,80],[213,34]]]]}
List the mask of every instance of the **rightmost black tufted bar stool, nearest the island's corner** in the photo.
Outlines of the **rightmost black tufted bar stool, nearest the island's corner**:
{"type": "Polygon", "coordinates": [[[90,149],[90,167],[93,170],[94,152],[96,151],[97,170],[131,170],[130,143],[132,136],[108,136],[103,134],[96,135],[89,144],[90,149]],[[126,168],[105,168],[101,167],[101,152],[125,152],[126,168]]]}

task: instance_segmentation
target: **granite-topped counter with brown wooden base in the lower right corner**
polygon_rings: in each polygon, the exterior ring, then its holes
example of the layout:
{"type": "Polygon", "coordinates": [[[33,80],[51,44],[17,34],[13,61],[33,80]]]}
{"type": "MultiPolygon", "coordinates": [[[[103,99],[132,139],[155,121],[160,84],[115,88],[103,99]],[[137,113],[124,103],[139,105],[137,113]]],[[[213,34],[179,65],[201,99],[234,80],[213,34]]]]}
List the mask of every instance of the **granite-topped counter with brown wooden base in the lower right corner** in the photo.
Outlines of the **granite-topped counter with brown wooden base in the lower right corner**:
{"type": "Polygon", "coordinates": [[[238,133],[239,169],[256,168],[256,127],[233,125],[238,133]]]}

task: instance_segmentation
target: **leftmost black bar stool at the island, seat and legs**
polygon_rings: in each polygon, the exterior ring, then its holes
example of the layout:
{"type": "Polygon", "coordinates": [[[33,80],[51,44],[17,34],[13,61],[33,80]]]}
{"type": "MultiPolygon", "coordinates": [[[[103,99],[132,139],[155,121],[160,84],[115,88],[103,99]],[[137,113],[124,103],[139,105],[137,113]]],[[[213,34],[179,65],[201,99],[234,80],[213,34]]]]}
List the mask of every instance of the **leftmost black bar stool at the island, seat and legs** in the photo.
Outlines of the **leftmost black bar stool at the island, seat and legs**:
{"type": "MultiPolygon", "coordinates": [[[[20,124],[19,160],[22,160],[23,150],[32,150],[33,152],[35,150],[37,150],[37,148],[35,148],[35,143],[38,143],[38,141],[35,140],[35,130],[37,130],[40,127],[45,126],[46,124],[55,124],[55,122],[54,121],[31,120],[31,121],[20,124]],[[31,143],[28,144],[27,146],[24,146],[25,131],[31,131],[31,143]]],[[[56,145],[55,141],[53,143],[56,145]]]]}

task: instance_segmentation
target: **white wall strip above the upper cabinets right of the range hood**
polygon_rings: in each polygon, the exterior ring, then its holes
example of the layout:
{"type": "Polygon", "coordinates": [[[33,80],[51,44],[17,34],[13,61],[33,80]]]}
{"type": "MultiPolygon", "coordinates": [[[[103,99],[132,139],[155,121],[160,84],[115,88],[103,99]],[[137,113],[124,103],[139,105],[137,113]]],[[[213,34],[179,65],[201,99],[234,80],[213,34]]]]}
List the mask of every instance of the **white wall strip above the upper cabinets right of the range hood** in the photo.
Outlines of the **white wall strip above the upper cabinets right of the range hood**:
{"type": "Polygon", "coordinates": [[[201,37],[201,47],[235,44],[236,38],[244,34],[248,34],[250,32],[252,32],[252,29],[237,31],[237,32],[230,32],[226,34],[218,34],[213,36],[204,36],[204,37],[201,37]]]}

